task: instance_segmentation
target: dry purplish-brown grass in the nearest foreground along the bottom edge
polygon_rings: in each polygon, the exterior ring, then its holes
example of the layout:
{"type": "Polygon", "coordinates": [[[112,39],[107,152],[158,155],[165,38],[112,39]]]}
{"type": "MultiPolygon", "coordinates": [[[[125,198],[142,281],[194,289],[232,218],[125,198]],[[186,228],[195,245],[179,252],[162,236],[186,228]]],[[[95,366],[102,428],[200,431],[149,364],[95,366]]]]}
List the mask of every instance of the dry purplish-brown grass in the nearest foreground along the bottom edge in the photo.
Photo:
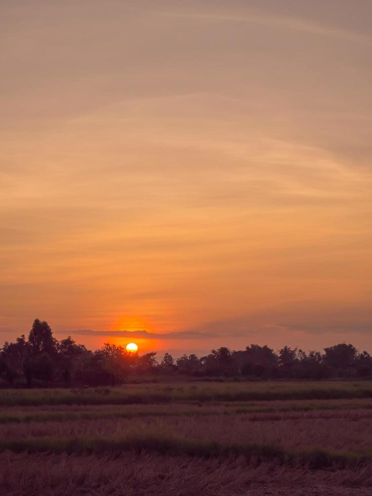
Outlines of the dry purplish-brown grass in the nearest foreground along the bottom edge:
{"type": "Polygon", "coordinates": [[[76,456],[8,451],[0,454],[0,467],[0,488],[7,496],[366,496],[372,485],[372,465],[311,472],[272,463],[247,466],[241,457],[200,460],[145,452],[76,456]]]}

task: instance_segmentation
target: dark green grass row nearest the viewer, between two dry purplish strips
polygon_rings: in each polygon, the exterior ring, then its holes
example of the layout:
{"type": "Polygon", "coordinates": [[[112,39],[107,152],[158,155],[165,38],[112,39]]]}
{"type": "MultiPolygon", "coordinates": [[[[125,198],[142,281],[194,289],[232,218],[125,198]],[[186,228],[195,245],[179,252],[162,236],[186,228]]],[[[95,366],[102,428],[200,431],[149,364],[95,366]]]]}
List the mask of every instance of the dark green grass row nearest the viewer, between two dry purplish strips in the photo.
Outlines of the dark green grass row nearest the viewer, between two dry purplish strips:
{"type": "Polygon", "coordinates": [[[127,437],[122,439],[86,438],[86,437],[37,437],[28,439],[2,439],[0,451],[53,452],[68,454],[120,452],[157,452],[170,456],[188,455],[211,458],[227,456],[243,456],[247,460],[255,458],[257,462],[272,461],[275,463],[303,464],[312,469],[345,468],[360,466],[372,460],[372,450],[363,452],[335,451],[323,448],[307,448],[298,451],[287,451],[281,447],[267,444],[224,444],[215,441],[188,440],[170,437],[127,437]]]}

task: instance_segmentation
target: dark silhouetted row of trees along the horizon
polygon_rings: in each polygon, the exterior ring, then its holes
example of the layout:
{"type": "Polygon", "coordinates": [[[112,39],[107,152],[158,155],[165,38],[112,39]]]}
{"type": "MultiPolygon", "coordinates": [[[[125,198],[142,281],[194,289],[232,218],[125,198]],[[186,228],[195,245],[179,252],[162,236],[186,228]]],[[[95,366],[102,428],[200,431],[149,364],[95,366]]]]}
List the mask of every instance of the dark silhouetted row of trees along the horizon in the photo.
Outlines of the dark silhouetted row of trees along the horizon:
{"type": "Polygon", "coordinates": [[[48,322],[35,319],[28,339],[6,342],[0,351],[3,386],[98,386],[121,384],[131,375],[186,375],[193,377],[265,379],[368,378],[372,357],[353,345],[340,343],[324,353],[283,346],[274,352],[252,344],[244,350],[221,347],[206,356],[166,353],[159,363],[156,352],[138,355],[121,346],[104,344],[94,352],[69,336],[58,341],[48,322]]]}

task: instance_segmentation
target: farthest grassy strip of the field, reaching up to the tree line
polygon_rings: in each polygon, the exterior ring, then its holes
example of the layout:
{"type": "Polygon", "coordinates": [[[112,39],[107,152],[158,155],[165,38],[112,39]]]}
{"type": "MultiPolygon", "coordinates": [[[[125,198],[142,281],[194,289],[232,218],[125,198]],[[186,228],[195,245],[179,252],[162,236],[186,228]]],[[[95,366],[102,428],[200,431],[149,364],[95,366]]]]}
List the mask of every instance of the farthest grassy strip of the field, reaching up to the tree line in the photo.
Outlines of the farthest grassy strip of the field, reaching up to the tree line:
{"type": "Polygon", "coordinates": [[[1,390],[0,406],[372,398],[367,382],[128,384],[115,388],[1,390]]]}

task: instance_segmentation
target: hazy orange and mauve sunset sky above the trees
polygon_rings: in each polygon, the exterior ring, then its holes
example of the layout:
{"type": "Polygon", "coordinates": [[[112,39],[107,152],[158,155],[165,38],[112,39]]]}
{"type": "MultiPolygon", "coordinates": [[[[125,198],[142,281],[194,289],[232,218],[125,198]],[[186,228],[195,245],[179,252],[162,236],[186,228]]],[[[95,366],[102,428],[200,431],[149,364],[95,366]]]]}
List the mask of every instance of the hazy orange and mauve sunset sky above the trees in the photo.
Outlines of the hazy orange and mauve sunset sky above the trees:
{"type": "Polygon", "coordinates": [[[372,352],[370,0],[0,12],[2,343],[372,352]]]}

